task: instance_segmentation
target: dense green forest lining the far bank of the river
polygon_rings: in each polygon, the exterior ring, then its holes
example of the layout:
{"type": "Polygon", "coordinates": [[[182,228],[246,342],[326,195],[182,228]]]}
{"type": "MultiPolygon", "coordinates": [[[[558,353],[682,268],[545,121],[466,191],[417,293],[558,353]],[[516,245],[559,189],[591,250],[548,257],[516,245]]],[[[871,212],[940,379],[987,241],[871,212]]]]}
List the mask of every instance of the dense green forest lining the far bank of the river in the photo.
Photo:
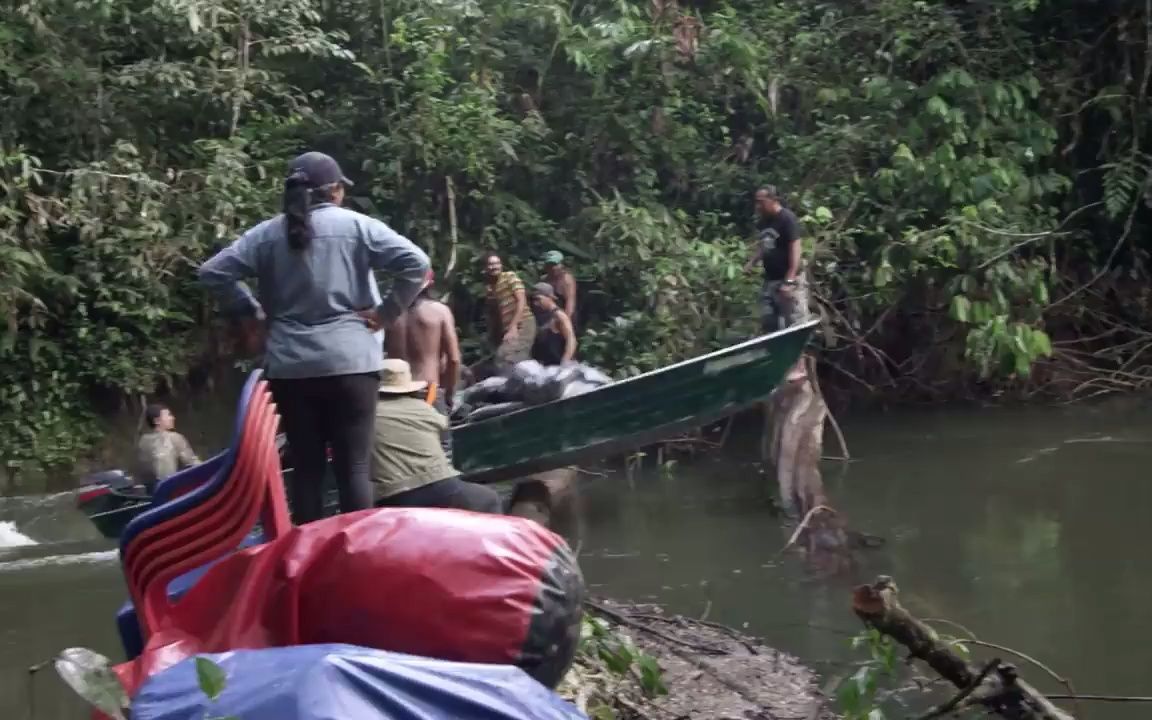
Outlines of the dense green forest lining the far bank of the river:
{"type": "Polygon", "coordinates": [[[6,0],[0,457],[211,363],[194,268],[336,156],[432,255],[558,248],[620,372],[746,335],[803,218],[842,391],[1147,381],[1152,0],[6,0]]]}

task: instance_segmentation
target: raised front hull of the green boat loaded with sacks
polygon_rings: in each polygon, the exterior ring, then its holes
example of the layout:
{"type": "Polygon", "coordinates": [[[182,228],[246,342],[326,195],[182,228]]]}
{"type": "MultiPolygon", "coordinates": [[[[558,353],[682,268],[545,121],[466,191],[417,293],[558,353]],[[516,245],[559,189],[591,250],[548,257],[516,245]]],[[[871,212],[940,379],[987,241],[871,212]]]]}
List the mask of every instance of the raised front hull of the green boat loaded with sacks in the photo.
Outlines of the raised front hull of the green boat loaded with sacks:
{"type": "Polygon", "coordinates": [[[761,335],[601,388],[453,429],[465,478],[495,483],[598,460],[763,402],[799,358],[817,321],[761,335]]]}

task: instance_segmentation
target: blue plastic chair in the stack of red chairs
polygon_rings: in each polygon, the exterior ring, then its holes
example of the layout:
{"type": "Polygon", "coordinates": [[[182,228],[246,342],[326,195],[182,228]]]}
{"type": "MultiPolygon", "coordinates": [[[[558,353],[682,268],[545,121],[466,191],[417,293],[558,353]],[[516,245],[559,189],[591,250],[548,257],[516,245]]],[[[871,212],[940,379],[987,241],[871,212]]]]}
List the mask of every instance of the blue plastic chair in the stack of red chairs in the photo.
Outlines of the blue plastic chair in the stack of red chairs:
{"type": "MultiPolygon", "coordinates": [[[[152,506],[144,513],[134,517],[123,532],[120,535],[120,560],[123,564],[128,553],[131,552],[134,540],[142,532],[154,528],[173,517],[199,506],[202,502],[213,498],[220,488],[225,486],[228,473],[232,471],[236,458],[236,450],[240,447],[241,433],[243,430],[244,416],[248,414],[248,406],[251,402],[252,393],[260,381],[263,371],[256,370],[244,382],[244,388],[240,394],[236,419],[233,426],[233,439],[227,450],[204,461],[198,465],[187,468],[176,475],[162,480],[152,498],[152,506]],[[188,490],[191,487],[192,490],[188,490]],[[183,493],[183,494],[181,494],[183,493]],[[179,497],[176,497],[179,495],[179,497]]],[[[264,533],[257,529],[237,546],[236,550],[260,545],[265,541],[264,533]]],[[[179,600],[207,570],[223,560],[227,555],[221,555],[217,560],[199,568],[181,575],[168,585],[168,598],[179,600]]],[[[120,634],[120,642],[124,649],[124,654],[129,660],[139,655],[144,651],[144,637],[141,632],[139,619],[136,615],[136,607],[131,599],[124,602],[116,612],[116,628],[120,634]]]]}

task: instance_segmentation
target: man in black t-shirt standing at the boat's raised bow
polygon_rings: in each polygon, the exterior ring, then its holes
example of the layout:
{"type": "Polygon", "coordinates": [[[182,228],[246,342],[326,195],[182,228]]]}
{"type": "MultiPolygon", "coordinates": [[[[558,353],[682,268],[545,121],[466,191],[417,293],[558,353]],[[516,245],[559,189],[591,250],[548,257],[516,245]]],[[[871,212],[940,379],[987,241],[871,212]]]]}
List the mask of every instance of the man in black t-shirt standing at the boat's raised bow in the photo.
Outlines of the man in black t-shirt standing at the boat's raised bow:
{"type": "Polygon", "coordinates": [[[781,203],[772,185],[756,191],[756,210],[763,223],[744,265],[752,272],[764,266],[760,289],[760,331],[772,333],[808,318],[808,290],[801,274],[799,221],[781,203]]]}

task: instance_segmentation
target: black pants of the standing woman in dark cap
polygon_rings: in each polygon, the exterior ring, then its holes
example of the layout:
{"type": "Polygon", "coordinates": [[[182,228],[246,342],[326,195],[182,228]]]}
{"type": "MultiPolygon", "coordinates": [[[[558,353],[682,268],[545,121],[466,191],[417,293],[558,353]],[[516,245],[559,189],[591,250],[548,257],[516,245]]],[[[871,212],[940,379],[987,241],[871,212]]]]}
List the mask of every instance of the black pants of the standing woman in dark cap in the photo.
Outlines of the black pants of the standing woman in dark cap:
{"type": "Polygon", "coordinates": [[[293,458],[288,499],[297,524],[324,516],[329,446],[340,511],[372,507],[370,463],[379,384],[376,372],[270,382],[293,458]]]}

